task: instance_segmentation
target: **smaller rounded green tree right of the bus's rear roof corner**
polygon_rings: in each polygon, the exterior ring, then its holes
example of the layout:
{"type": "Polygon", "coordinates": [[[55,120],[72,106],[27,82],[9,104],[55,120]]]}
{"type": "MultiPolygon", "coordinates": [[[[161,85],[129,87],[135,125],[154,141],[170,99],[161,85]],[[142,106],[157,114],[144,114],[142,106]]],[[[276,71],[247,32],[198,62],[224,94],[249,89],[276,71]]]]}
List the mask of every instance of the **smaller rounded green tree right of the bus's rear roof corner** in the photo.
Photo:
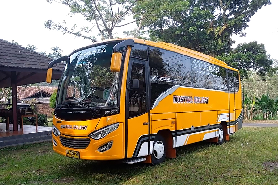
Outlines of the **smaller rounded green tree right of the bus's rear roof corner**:
{"type": "Polygon", "coordinates": [[[238,44],[229,54],[223,53],[216,58],[239,69],[241,78],[248,78],[250,69],[253,69],[260,77],[272,71],[273,59],[270,59],[270,54],[267,54],[264,44],[258,44],[257,41],[238,44]]]}

